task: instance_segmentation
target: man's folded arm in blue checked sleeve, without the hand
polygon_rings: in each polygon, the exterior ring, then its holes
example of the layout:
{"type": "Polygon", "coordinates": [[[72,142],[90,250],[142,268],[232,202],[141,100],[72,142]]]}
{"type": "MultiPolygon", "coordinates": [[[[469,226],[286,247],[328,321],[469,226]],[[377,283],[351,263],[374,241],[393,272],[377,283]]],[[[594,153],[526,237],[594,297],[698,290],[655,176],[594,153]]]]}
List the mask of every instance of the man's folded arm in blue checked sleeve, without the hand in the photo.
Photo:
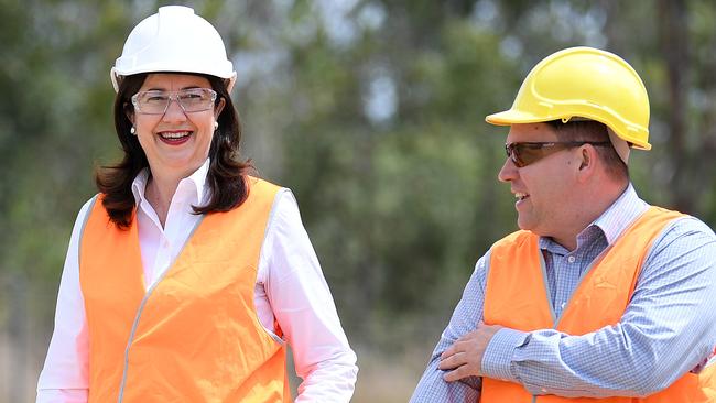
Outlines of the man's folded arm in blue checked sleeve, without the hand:
{"type": "Polygon", "coordinates": [[[538,395],[655,393],[714,350],[715,293],[714,233],[682,219],[652,247],[620,323],[584,336],[502,329],[487,347],[482,374],[538,395]]]}

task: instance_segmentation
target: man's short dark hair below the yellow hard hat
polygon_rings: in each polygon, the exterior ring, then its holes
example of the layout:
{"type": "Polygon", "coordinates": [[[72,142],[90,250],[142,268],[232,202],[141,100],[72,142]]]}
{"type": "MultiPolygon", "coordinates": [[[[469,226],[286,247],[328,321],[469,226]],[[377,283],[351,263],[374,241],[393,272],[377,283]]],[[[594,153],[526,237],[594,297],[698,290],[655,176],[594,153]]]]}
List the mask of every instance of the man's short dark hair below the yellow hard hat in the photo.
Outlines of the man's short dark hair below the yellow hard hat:
{"type": "MultiPolygon", "coordinates": [[[[561,141],[606,141],[609,140],[607,126],[596,120],[569,120],[564,123],[561,119],[546,122],[557,134],[561,141]]],[[[614,144],[610,146],[597,146],[597,154],[607,167],[607,174],[615,179],[629,179],[629,167],[621,161],[614,144]]]]}

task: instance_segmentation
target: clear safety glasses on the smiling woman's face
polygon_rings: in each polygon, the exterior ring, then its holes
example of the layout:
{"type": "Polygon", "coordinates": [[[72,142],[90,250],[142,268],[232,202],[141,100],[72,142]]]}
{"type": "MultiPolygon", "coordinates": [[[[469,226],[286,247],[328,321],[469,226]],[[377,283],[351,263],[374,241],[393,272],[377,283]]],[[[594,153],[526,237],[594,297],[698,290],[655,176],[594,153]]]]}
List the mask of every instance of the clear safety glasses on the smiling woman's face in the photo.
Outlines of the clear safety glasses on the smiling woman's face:
{"type": "Polygon", "coordinates": [[[178,91],[141,91],[132,96],[132,105],[139,113],[164,115],[175,100],[184,112],[209,110],[216,101],[216,91],[209,88],[187,88],[178,91]]]}

